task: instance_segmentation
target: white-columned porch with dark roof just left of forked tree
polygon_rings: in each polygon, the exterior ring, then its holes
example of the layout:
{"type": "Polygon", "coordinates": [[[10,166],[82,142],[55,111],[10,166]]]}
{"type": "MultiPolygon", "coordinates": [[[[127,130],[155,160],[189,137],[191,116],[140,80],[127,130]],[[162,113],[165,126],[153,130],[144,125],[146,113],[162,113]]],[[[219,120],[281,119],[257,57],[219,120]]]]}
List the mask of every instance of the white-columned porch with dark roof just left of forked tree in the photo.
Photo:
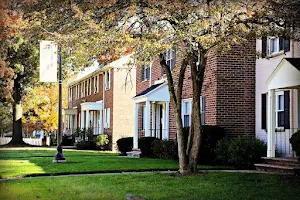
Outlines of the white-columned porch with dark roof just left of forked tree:
{"type": "Polygon", "coordinates": [[[142,136],[169,139],[170,96],[167,83],[152,85],[133,100],[133,148],[138,149],[138,138],[142,136]]]}

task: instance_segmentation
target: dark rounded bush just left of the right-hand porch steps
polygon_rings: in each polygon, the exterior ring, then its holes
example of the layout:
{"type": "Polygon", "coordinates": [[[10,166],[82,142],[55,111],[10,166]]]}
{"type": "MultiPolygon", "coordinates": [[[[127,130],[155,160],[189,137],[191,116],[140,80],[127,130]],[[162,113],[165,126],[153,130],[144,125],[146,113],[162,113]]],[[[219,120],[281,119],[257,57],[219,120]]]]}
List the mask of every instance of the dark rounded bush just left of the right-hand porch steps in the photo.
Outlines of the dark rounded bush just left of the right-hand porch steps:
{"type": "Polygon", "coordinates": [[[267,145],[259,139],[223,139],[217,144],[217,159],[236,169],[254,169],[254,164],[267,154],[267,145]]]}

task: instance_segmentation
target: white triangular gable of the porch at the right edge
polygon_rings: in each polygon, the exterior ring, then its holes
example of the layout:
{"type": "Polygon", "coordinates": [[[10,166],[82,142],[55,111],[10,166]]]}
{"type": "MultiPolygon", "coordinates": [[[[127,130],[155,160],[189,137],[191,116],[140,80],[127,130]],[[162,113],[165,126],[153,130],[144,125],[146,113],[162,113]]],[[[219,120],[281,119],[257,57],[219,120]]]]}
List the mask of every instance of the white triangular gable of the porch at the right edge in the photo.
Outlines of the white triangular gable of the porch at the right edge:
{"type": "Polygon", "coordinates": [[[286,59],[282,59],[267,80],[268,89],[300,86],[300,71],[286,59]]]}

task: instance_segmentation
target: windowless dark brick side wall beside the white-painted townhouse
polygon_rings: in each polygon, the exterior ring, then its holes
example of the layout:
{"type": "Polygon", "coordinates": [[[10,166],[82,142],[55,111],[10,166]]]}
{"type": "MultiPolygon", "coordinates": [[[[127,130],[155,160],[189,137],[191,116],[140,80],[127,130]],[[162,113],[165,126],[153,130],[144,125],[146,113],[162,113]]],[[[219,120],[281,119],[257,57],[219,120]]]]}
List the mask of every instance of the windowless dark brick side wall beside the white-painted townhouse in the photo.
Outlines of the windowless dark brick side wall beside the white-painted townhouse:
{"type": "Polygon", "coordinates": [[[255,134],[255,41],[217,57],[217,125],[229,137],[255,134]]]}

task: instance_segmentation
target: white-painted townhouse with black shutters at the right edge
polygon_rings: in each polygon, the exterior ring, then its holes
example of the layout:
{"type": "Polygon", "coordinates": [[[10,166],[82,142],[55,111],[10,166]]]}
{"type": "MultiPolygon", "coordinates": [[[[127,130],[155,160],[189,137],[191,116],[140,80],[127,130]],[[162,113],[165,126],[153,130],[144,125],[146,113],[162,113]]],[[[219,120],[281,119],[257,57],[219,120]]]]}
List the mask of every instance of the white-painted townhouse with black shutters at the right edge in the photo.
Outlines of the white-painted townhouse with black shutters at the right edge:
{"type": "Polygon", "coordinates": [[[289,139],[300,130],[300,43],[265,37],[256,50],[265,55],[256,60],[256,137],[268,144],[268,157],[293,157],[289,139]]]}

